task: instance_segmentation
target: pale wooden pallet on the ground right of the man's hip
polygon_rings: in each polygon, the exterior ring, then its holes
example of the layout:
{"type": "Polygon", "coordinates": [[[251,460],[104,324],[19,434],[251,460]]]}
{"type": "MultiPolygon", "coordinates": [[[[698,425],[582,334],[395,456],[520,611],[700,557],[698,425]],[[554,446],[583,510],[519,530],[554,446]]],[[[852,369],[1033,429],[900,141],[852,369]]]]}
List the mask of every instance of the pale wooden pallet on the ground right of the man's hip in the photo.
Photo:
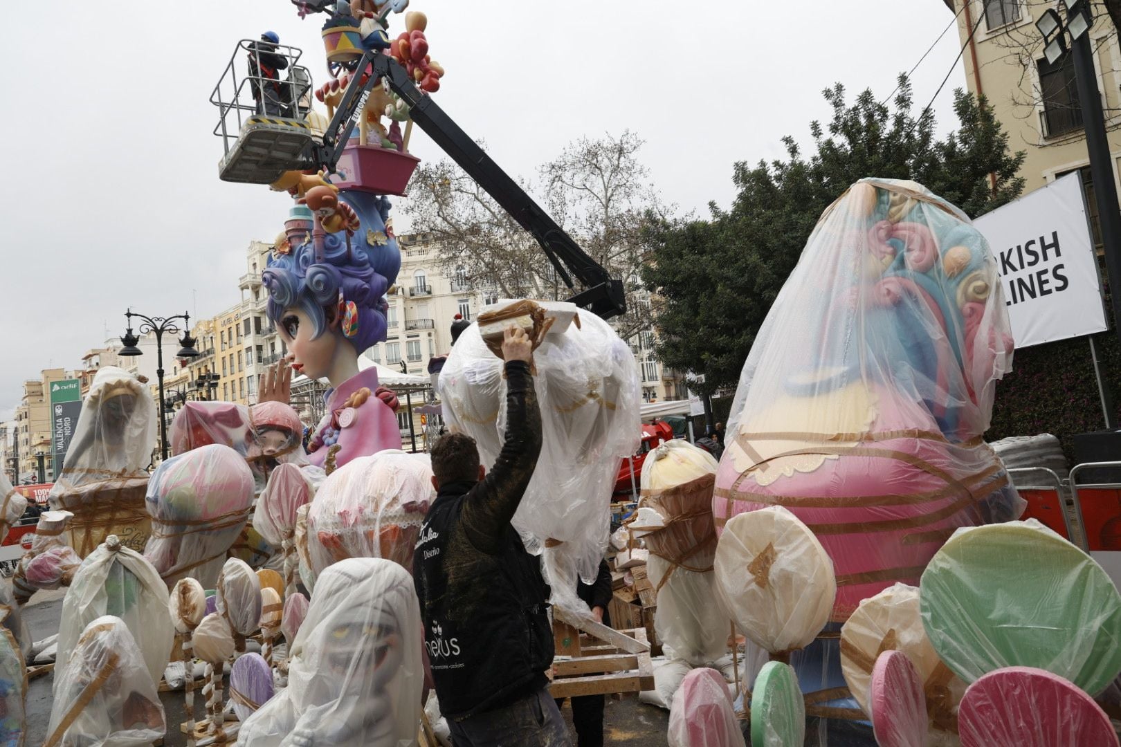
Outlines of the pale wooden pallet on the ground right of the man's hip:
{"type": "Polygon", "coordinates": [[[643,628],[615,631],[593,622],[577,628],[562,618],[558,613],[553,625],[556,653],[571,659],[554,661],[550,695],[654,690],[654,664],[643,628]]]}

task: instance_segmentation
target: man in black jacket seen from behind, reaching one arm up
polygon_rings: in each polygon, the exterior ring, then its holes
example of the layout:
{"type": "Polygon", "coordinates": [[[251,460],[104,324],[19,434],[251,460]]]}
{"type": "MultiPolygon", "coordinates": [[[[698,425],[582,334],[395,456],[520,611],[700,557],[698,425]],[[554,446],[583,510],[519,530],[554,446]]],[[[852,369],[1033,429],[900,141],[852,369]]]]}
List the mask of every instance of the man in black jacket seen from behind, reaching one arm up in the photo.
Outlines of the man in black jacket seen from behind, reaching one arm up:
{"type": "Polygon", "coordinates": [[[455,747],[569,745],[548,695],[553,665],[548,587],[510,524],[541,450],[529,338],[509,329],[506,440],[490,473],[473,439],[432,449],[436,501],[413,558],[425,647],[455,747]]]}

